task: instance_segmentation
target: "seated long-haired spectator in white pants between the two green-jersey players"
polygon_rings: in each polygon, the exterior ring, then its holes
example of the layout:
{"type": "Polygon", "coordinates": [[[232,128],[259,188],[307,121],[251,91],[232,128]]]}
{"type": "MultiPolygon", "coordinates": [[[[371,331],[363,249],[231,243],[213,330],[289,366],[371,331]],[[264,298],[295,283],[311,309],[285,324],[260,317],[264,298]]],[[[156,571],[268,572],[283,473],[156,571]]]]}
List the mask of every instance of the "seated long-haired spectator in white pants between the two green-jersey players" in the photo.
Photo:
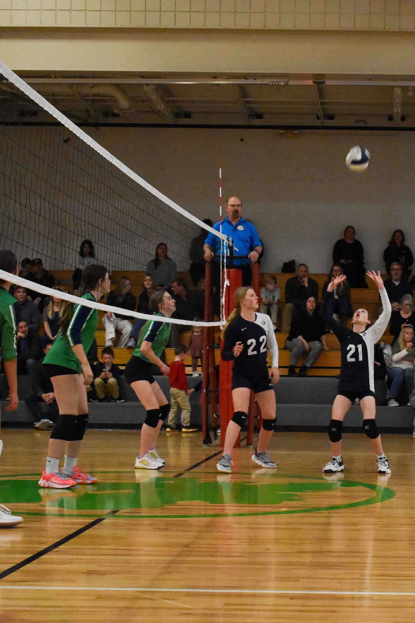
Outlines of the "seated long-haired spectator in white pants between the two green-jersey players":
{"type": "MultiPolygon", "coordinates": [[[[135,310],[136,297],[131,292],[131,281],[128,277],[120,277],[116,290],[111,290],[106,297],[106,304],[121,307],[124,310],[135,310]]],[[[124,348],[129,339],[133,325],[126,316],[107,312],[102,319],[105,327],[105,346],[114,346],[115,331],[121,331],[118,348],[124,348]]]]}

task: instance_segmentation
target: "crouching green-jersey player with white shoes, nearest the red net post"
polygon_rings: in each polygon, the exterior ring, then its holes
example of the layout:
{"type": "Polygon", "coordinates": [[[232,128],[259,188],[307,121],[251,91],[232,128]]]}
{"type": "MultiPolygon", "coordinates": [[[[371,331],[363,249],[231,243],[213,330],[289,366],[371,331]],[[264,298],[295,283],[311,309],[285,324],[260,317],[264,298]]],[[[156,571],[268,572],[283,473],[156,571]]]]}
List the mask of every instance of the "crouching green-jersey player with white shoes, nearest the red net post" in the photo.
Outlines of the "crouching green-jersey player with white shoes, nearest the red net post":
{"type": "Polygon", "coordinates": [[[164,467],[164,460],[157,454],[156,440],[162,422],[170,411],[170,404],[152,376],[151,368],[156,365],[164,376],[170,372],[169,366],[166,366],[160,359],[169,341],[170,324],[157,321],[156,317],[170,318],[175,310],[175,302],[168,292],[159,290],[151,295],[149,306],[155,313],[155,318],[148,320],[143,326],[137,348],[124,370],[126,380],[147,411],[146,420],[141,429],[140,454],[135,465],[137,469],[164,467]]]}

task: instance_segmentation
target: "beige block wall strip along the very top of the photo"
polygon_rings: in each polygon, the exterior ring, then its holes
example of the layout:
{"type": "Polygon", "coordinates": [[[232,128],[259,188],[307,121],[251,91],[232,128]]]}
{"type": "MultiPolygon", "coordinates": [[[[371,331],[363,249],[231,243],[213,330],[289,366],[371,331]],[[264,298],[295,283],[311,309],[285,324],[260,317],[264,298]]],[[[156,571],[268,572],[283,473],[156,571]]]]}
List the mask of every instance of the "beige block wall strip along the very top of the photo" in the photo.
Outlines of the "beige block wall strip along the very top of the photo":
{"type": "Polygon", "coordinates": [[[0,26],[414,31],[415,0],[0,0],[0,26]]]}

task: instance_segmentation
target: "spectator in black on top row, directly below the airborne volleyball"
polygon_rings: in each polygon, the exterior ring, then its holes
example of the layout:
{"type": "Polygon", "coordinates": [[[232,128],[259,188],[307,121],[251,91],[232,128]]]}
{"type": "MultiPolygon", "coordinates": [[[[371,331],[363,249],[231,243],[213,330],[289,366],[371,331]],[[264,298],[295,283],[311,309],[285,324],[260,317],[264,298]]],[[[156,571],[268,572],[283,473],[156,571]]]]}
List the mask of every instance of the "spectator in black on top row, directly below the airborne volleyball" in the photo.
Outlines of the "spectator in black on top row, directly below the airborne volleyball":
{"type": "Polygon", "coordinates": [[[367,288],[363,247],[355,240],[355,235],[355,228],[348,225],[344,238],[337,240],[333,247],[333,262],[342,266],[351,288],[367,288]]]}

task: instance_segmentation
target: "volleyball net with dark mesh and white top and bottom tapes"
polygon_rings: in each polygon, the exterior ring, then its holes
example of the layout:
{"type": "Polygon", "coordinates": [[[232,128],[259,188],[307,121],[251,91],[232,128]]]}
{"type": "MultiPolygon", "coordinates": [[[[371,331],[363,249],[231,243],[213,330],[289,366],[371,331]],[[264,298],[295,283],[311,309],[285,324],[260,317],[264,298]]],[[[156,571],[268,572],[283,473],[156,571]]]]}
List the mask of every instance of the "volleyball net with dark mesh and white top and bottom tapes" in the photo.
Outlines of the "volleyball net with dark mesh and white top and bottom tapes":
{"type": "MultiPolygon", "coordinates": [[[[146,271],[159,243],[167,245],[177,270],[187,271],[190,243],[200,228],[225,246],[225,235],[101,146],[94,138],[96,128],[87,134],[1,62],[0,76],[1,249],[11,249],[19,261],[39,257],[49,270],[73,271],[80,264],[80,243],[87,239],[93,241],[96,264],[128,274],[146,271]]],[[[0,271],[0,278],[56,296],[51,288],[9,273],[0,271]]],[[[66,292],[59,297],[80,302],[66,292]]],[[[82,305],[151,317],[85,299],[82,305]]],[[[217,326],[220,321],[208,324],[217,326]]]]}

